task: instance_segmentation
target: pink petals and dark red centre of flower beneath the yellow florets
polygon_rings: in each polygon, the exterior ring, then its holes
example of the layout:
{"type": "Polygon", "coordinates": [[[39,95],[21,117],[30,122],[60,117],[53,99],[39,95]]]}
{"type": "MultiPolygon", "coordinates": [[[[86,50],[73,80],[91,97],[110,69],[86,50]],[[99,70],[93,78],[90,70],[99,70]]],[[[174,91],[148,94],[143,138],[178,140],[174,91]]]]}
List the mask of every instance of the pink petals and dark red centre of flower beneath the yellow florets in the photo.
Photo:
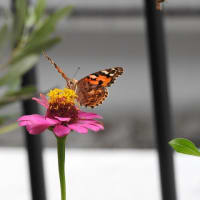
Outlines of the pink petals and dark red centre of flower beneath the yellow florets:
{"type": "Polygon", "coordinates": [[[63,103],[62,95],[59,98],[56,96],[53,101],[51,101],[52,99],[48,101],[43,94],[40,94],[40,97],[40,99],[33,98],[33,100],[47,109],[46,115],[24,115],[17,120],[19,126],[25,126],[30,134],[37,135],[46,129],[50,129],[56,136],[63,137],[68,135],[72,130],[86,134],[88,129],[95,132],[104,129],[102,123],[95,120],[101,119],[100,115],[83,112],[77,109],[71,102],[66,103],[65,101],[63,103]]]}

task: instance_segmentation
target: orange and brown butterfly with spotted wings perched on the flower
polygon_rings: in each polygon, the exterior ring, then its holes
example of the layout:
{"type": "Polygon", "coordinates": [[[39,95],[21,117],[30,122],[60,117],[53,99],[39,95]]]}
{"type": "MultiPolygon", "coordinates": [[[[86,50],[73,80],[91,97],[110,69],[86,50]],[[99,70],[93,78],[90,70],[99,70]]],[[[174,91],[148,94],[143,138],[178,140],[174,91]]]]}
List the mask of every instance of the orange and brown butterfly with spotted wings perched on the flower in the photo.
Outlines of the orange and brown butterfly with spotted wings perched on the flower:
{"type": "Polygon", "coordinates": [[[45,52],[43,54],[66,80],[67,87],[76,92],[78,103],[85,107],[94,108],[102,104],[108,96],[107,87],[111,86],[115,79],[124,71],[122,67],[113,67],[92,73],[78,81],[68,78],[62,69],[45,52]]]}

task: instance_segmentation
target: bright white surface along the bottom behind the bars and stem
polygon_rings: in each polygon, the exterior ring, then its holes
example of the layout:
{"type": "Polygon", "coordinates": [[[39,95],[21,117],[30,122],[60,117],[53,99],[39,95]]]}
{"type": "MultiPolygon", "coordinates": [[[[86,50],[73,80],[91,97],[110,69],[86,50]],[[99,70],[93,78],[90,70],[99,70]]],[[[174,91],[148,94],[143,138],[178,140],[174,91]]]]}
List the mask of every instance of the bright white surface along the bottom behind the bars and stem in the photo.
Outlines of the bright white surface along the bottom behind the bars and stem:
{"type": "MultiPolygon", "coordinates": [[[[56,149],[45,150],[48,200],[59,200],[56,149]]],[[[24,149],[0,149],[0,199],[30,200],[24,149]]],[[[199,200],[200,160],[175,155],[179,200],[199,200]]],[[[154,150],[66,151],[68,200],[160,200],[159,172],[154,150]]]]}

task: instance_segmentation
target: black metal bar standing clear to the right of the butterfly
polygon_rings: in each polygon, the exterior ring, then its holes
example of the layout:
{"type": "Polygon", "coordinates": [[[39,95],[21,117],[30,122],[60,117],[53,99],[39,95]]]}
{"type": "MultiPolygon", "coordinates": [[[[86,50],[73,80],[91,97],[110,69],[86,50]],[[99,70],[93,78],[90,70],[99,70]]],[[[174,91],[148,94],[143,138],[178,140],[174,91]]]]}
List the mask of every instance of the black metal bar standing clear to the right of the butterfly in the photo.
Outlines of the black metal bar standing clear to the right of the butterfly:
{"type": "Polygon", "coordinates": [[[145,0],[162,199],[175,200],[173,155],[168,145],[168,142],[172,138],[172,118],[167,83],[165,35],[162,11],[156,10],[155,7],[155,0],[145,0]]]}

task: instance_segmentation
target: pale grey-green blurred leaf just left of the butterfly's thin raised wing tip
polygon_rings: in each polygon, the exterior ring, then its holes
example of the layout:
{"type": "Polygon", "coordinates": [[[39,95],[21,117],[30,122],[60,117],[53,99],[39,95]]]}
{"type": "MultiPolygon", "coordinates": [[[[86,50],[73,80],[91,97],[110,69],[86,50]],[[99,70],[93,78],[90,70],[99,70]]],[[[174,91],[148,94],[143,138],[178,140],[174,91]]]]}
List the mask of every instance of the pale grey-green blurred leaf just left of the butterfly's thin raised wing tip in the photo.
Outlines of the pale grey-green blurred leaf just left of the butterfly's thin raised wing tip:
{"type": "Polygon", "coordinates": [[[38,61],[38,56],[31,55],[23,60],[12,64],[9,67],[9,71],[6,75],[0,78],[0,86],[9,84],[14,79],[20,78],[28,70],[30,70],[38,61]]]}

